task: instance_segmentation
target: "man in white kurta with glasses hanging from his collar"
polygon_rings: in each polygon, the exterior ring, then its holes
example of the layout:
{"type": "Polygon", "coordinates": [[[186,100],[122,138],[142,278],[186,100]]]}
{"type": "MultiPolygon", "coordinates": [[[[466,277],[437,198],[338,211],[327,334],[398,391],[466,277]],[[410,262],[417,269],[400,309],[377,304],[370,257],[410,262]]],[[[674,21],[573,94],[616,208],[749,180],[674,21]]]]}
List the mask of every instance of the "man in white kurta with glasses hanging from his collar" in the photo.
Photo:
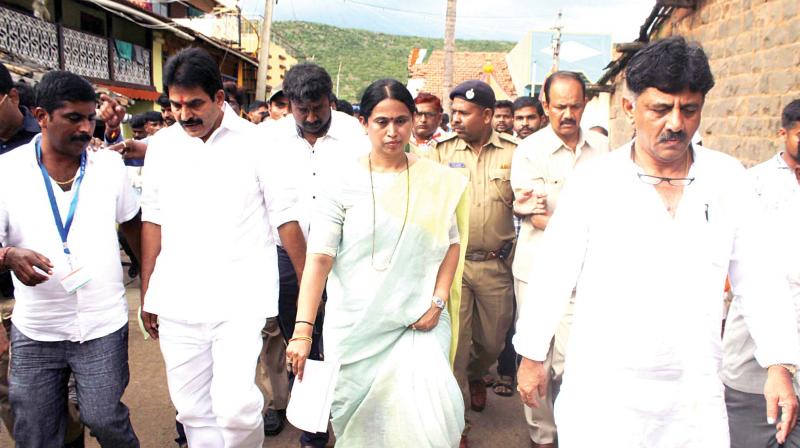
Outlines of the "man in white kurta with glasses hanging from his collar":
{"type": "Polygon", "coordinates": [[[559,447],[729,447],[717,374],[727,275],[769,367],[762,418],[775,423],[780,405],[787,419],[782,443],[797,412],[797,327],[744,168],[690,144],[714,85],[708,59],[682,37],[655,41],[631,58],[626,82],[636,138],[576,168],[541,245],[548,262],[533,267],[514,337],[520,395],[540,405],[543,362],[576,289],[559,447]]]}

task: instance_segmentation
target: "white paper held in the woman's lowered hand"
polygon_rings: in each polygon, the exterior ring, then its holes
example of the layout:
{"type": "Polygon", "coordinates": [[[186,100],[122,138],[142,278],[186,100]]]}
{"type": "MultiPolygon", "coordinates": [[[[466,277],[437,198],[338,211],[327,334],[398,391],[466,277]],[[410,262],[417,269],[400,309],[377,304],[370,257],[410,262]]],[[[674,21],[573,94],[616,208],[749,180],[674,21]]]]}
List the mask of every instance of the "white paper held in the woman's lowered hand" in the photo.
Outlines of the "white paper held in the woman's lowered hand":
{"type": "Polygon", "coordinates": [[[303,381],[295,380],[286,408],[289,422],[307,432],[326,432],[339,377],[339,363],[306,360],[303,381]]]}

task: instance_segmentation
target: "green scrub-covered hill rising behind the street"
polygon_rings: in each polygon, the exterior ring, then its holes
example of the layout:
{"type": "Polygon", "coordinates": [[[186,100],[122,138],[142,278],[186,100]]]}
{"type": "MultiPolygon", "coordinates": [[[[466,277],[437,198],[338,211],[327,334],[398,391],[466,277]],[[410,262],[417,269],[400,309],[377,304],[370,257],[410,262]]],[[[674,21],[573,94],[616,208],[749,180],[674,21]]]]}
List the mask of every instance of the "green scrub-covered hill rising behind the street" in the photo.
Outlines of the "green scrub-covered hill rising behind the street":
{"type": "MultiPolygon", "coordinates": [[[[339,74],[339,97],[358,100],[370,82],[380,78],[408,78],[408,55],[413,47],[441,49],[443,39],[397,36],[371,31],[337,28],[309,22],[275,22],[275,43],[283,46],[299,61],[312,61],[325,68],[333,78],[339,74]]],[[[457,51],[507,52],[514,42],[458,40],[457,51]]]]}

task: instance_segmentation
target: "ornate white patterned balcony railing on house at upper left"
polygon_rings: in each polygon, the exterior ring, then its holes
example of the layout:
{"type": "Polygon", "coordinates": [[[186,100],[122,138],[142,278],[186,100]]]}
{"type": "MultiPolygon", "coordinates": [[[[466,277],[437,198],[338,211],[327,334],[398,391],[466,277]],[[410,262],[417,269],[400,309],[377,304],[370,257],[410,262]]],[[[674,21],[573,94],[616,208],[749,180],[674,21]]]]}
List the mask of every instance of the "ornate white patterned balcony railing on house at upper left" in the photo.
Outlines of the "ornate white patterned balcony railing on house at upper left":
{"type": "Polygon", "coordinates": [[[115,39],[55,25],[0,6],[0,49],[46,68],[61,68],[96,80],[152,86],[151,52],[115,39]]]}

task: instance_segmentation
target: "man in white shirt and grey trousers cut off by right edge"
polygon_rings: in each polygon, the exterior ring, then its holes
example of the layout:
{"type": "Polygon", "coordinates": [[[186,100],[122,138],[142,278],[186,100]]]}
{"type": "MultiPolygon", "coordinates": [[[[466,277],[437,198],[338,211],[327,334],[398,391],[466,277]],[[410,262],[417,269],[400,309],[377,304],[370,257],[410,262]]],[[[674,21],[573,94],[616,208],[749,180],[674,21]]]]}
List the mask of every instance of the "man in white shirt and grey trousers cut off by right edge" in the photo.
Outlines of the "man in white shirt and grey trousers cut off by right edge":
{"type": "MultiPolygon", "coordinates": [[[[766,162],[754,166],[749,174],[753,178],[760,208],[752,213],[764,214],[774,225],[775,241],[770,245],[771,255],[786,272],[786,279],[795,304],[796,331],[800,334],[800,240],[794,232],[800,228],[800,179],[795,175],[800,167],[800,100],[794,100],[784,109],[779,135],[783,140],[783,151],[766,162]],[[786,230],[789,229],[787,237],[786,230]]],[[[746,315],[735,297],[725,325],[722,347],[720,377],[725,383],[725,404],[728,408],[728,423],[732,448],[770,446],[775,431],[763,418],[766,402],[761,390],[767,378],[767,370],[756,360],[757,350],[746,324],[746,315]]],[[[800,390],[794,378],[795,392],[800,390]]],[[[774,442],[773,442],[774,443],[774,442]]],[[[789,434],[786,446],[800,446],[800,432],[789,434]]]]}

